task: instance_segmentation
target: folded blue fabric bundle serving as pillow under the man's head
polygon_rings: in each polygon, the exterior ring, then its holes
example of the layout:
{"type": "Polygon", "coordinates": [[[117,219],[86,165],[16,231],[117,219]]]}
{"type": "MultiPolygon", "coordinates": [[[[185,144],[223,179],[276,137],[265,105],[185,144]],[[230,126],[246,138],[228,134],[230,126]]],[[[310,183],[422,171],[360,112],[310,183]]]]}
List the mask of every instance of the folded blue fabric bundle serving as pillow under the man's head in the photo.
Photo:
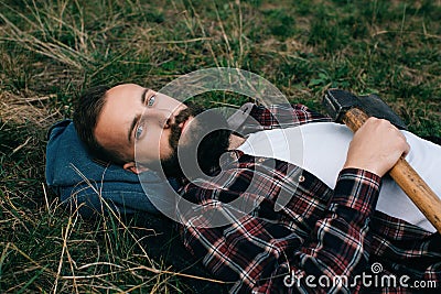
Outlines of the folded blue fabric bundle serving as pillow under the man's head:
{"type": "Polygon", "coordinates": [[[149,197],[171,193],[169,183],[178,188],[175,181],[164,181],[153,172],[142,176],[143,189],[138,175],[121,166],[97,163],[87,153],[71,120],[54,124],[49,131],[46,146],[46,183],[63,203],[78,208],[83,216],[94,211],[131,215],[136,213],[159,214],[149,197]],[[103,202],[105,200],[105,202],[103,202]]]}

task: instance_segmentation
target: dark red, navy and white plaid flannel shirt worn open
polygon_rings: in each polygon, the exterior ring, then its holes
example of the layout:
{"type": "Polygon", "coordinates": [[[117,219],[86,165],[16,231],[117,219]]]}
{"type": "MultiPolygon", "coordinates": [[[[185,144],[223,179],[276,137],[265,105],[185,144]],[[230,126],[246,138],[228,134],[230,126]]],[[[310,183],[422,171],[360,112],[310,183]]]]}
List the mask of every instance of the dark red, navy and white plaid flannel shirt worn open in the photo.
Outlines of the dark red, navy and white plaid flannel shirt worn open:
{"type": "MultiPolygon", "coordinates": [[[[258,129],[329,121],[302,105],[246,105],[246,109],[250,118],[240,126],[244,132],[256,131],[250,120],[257,120],[258,129]]],[[[198,215],[179,215],[185,247],[216,279],[230,282],[232,293],[411,292],[398,282],[391,287],[378,282],[390,274],[397,281],[410,276],[408,285],[421,280],[441,286],[440,235],[376,211],[377,175],[346,168],[331,189],[293,164],[240,151],[229,155],[220,159],[219,175],[182,188],[183,198],[197,204],[198,215]],[[287,195],[283,205],[278,204],[287,195]],[[252,204],[254,209],[241,214],[237,200],[252,204]],[[226,225],[207,226],[213,213],[222,215],[226,225]],[[381,266],[377,280],[375,263],[381,266]],[[363,281],[363,273],[372,277],[363,281]],[[347,283],[326,285],[336,276],[347,277],[347,283]],[[318,286],[312,287],[311,281],[318,286]]]]}

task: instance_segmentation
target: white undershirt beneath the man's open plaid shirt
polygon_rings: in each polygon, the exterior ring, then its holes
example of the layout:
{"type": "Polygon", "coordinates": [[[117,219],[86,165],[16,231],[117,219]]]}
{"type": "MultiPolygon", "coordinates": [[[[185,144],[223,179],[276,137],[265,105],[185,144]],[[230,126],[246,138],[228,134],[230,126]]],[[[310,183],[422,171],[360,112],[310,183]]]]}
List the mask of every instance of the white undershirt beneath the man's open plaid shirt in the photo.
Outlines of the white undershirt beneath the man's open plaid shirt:
{"type": "MultiPolygon", "coordinates": [[[[434,193],[441,196],[441,146],[410,132],[402,131],[402,133],[411,146],[407,161],[434,193]]],[[[353,133],[346,126],[318,122],[251,133],[238,149],[246,154],[293,163],[334,188],[338,173],[346,161],[352,138],[353,133]]],[[[390,177],[383,179],[376,209],[426,230],[435,231],[390,177]]]]}

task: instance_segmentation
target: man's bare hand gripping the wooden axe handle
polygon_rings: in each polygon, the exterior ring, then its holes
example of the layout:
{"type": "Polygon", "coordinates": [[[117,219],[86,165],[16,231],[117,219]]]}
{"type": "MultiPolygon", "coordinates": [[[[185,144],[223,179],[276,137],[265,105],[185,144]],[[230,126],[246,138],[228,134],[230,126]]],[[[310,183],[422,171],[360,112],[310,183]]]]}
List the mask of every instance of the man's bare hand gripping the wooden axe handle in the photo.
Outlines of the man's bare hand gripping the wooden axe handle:
{"type": "Polygon", "coordinates": [[[409,150],[406,137],[394,124],[369,118],[354,134],[344,167],[356,167],[384,176],[409,150]]]}

